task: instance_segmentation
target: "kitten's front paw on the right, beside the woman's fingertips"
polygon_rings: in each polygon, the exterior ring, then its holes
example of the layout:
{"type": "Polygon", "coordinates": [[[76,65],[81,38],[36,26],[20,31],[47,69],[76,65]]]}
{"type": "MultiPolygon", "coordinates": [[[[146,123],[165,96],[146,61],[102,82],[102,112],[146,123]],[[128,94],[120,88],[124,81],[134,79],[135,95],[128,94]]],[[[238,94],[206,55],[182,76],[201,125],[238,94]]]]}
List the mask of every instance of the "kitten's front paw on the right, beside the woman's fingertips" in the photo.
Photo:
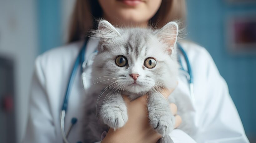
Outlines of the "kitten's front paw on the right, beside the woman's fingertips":
{"type": "Polygon", "coordinates": [[[160,117],[150,119],[150,125],[162,136],[169,134],[174,128],[174,116],[165,114],[160,117]]]}

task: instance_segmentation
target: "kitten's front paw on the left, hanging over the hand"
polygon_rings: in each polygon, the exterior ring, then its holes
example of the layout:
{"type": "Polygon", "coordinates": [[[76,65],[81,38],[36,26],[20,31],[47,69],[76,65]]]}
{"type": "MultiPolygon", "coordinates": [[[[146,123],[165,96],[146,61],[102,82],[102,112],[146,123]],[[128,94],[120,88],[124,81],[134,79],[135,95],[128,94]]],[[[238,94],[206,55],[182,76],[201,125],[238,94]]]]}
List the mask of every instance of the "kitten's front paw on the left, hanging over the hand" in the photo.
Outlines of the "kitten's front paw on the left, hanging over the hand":
{"type": "Polygon", "coordinates": [[[127,120],[127,113],[121,111],[111,112],[105,115],[105,117],[103,117],[104,123],[109,127],[113,128],[114,130],[123,127],[127,120]]]}

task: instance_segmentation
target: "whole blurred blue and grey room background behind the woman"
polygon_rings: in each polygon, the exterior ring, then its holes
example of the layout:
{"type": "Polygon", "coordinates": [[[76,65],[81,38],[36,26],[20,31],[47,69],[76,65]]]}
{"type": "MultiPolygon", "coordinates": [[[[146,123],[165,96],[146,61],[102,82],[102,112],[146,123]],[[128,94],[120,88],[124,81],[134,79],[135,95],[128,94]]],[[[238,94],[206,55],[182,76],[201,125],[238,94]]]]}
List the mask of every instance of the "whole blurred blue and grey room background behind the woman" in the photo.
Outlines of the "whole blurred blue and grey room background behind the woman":
{"type": "MultiPolygon", "coordinates": [[[[21,141],[34,60],[65,44],[73,3],[0,0],[0,142],[21,141]]],[[[187,9],[186,39],[212,55],[256,142],[256,1],[188,0],[187,9]]]]}

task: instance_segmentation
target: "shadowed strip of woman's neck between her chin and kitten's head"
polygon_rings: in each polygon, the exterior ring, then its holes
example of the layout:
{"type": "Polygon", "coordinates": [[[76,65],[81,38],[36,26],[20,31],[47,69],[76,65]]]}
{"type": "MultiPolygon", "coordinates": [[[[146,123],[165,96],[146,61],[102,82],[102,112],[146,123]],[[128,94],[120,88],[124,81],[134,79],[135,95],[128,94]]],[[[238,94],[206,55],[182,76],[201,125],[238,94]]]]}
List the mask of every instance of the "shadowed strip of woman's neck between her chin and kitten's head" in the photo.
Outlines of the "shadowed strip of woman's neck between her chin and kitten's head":
{"type": "Polygon", "coordinates": [[[109,21],[112,25],[117,25],[120,27],[142,27],[147,28],[148,27],[148,21],[141,21],[141,22],[133,22],[133,21],[121,21],[119,19],[113,19],[105,14],[103,14],[103,18],[107,21],[109,21]]]}

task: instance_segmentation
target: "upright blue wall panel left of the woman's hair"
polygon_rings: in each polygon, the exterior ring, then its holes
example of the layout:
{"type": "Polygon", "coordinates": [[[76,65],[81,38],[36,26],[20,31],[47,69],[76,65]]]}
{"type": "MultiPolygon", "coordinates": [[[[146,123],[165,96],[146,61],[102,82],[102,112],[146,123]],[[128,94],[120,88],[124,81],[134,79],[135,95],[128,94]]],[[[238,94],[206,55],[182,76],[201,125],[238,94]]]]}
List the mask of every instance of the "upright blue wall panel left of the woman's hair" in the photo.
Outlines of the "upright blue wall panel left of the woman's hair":
{"type": "Polygon", "coordinates": [[[38,0],[37,16],[40,54],[62,43],[61,1],[38,0]]]}

